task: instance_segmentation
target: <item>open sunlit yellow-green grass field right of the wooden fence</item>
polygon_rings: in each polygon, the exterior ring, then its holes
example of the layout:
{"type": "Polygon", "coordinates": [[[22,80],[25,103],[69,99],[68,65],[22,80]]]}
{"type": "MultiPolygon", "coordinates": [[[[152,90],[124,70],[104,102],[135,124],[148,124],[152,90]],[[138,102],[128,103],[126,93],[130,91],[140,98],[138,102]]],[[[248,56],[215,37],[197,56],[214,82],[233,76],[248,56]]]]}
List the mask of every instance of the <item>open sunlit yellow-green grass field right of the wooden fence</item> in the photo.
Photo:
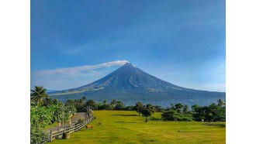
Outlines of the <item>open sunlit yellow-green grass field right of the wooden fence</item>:
{"type": "MultiPolygon", "coordinates": [[[[225,143],[225,122],[163,122],[149,119],[136,111],[94,111],[93,130],[81,129],[71,139],[54,143],[225,143]]],[[[161,118],[161,113],[154,113],[161,118]]]]}

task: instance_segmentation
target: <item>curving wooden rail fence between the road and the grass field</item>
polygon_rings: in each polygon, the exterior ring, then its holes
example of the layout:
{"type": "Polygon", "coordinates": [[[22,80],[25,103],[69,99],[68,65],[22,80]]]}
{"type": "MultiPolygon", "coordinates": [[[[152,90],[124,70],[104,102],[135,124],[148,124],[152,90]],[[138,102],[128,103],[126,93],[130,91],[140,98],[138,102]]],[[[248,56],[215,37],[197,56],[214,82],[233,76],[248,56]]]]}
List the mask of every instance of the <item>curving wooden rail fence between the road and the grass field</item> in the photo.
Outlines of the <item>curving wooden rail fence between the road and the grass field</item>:
{"type": "Polygon", "coordinates": [[[79,124],[66,125],[64,126],[64,128],[59,128],[56,131],[51,130],[47,139],[44,139],[43,142],[36,143],[36,144],[43,144],[46,142],[51,142],[54,139],[61,139],[63,136],[63,133],[67,133],[67,132],[72,133],[72,132],[78,131],[79,129],[82,129],[83,127],[85,127],[85,125],[87,125],[89,122],[92,121],[92,118],[93,116],[90,115],[90,117],[86,119],[85,122],[82,122],[79,124]]]}

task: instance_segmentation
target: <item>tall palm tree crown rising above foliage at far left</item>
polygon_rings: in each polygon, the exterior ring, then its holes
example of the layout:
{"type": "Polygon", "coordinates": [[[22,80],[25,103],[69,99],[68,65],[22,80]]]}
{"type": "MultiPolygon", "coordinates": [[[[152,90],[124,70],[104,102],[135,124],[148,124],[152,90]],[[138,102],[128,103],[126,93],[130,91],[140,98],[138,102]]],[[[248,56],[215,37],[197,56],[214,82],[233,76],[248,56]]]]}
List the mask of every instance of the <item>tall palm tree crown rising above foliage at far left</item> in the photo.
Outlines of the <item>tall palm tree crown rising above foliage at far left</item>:
{"type": "Polygon", "coordinates": [[[47,89],[35,86],[34,90],[30,90],[30,100],[36,105],[43,105],[43,98],[48,98],[47,89]]]}

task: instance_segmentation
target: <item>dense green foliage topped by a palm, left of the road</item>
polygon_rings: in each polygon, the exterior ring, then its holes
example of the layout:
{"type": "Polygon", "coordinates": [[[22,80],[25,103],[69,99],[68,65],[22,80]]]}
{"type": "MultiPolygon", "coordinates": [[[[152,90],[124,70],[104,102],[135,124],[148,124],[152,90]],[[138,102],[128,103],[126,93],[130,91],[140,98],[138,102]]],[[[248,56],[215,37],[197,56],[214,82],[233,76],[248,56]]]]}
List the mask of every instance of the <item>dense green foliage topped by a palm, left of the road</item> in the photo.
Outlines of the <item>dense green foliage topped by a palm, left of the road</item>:
{"type": "Polygon", "coordinates": [[[74,105],[64,105],[57,99],[49,98],[43,87],[31,90],[30,98],[30,143],[42,142],[47,138],[42,128],[54,122],[67,121],[76,112],[74,105]]]}

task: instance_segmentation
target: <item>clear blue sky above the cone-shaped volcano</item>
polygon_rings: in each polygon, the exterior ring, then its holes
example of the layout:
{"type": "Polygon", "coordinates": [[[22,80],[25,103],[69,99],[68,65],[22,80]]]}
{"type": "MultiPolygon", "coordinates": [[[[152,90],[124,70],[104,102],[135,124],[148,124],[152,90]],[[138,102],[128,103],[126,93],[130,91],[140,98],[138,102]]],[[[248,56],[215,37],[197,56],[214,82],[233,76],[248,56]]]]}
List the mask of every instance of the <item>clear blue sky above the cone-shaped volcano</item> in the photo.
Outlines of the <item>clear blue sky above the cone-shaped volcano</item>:
{"type": "Polygon", "coordinates": [[[172,84],[226,91],[225,6],[224,0],[31,1],[31,87],[79,87],[127,60],[172,84]]]}

